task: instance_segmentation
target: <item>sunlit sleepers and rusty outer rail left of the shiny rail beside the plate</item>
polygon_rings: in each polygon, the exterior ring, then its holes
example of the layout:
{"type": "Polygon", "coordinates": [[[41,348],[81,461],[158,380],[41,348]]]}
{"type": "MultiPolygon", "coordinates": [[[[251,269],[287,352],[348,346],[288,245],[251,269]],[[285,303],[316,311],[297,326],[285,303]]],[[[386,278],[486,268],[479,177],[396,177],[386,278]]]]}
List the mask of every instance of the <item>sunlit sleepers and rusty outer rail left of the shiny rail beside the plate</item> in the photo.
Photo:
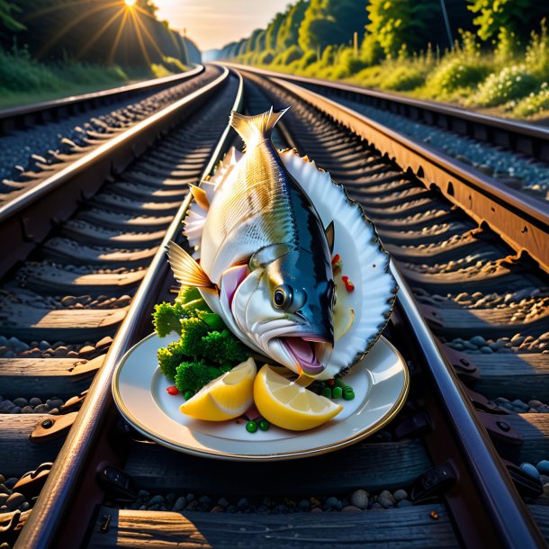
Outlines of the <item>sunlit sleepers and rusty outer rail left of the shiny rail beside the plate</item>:
{"type": "Polygon", "coordinates": [[[13,540],[28,516],[188,184],[200,182],[225,130],[238,78],[218,67],[205,75],[194,91],[90,146],[0,210],[8,252],[0,285],[0,538],[13,540]],[[36,479],[14,486],[40,464],[36,479]]]}

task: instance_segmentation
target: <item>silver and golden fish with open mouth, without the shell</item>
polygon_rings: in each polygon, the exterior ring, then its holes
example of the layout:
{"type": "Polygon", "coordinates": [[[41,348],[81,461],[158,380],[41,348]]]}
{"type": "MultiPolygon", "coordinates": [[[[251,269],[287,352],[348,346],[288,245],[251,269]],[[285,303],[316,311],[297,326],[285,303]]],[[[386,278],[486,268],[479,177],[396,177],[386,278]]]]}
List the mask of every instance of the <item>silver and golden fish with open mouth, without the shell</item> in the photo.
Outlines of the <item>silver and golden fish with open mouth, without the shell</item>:
{"type": "Polygon", "coordinates": [[[273,145],[272,131],[286,111],[231,113],[246,153],[211,202],[200,187],[191,189],[207,211],[200,263],[175,243],[168,259],[175,278],[199,288],[248,347],[315,377],[334,345],[334,226],[324,227],[273,145]]]}

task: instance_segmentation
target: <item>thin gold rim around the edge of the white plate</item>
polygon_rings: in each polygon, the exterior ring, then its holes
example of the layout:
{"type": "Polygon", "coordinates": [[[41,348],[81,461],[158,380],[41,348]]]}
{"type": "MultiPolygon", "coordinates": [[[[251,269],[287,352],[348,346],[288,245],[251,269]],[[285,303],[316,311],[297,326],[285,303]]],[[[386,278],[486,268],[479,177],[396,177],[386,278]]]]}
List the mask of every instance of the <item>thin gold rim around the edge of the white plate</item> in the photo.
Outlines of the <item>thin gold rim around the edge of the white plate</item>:
{"type": "Polygon", "coordinates": [[[209,457],[211,459],[220,459],[220,460],[226,460],[226,461],[238,461],[238,462],[250,462],[250,461],[265,462],[266,460],[283,461],[283,460],[292,460],[292,459],[300,459],[304,457],[311,457],[313,455],[328,454],[329,452],[334,452],[341,448],[346,448],[347,446],[356,444],[357,442],[364,440],[366,437],[369,437],[370,435],[372,435],[375,431],[383,428],[385,425],[390,423],[392,419],[394,419],[395,416],[401,411],[401,408],[404,405],[404,402],[406,401],[406,397],[408,396],[408,392],[410,390],[410,372],[408,371],[408,366],[406,365],[404,358],[401,356],[401,353],[398,351],[398,349],[394,347],[387,338],[383,338],[383,336],[381,336],[378,339],[378,341],[383,339],[385,344],[391,348],[392,352],[399,357],[399,361],[401,362],[401,365],[402,365],[402,373],[404,374],[404,383],[402,383],[401,393],[399,394],[398,398],[394,401],[394,404],[392,405],[392,409],[389,412],[387,412],[387,414],[385,414],[382,419],[379,419],[373,425],[366,428],[364,431],[361,431],[352,437],[344,438],[338,441],[337,443],[330,443],[329,445],[316,446],[313,448],[307,448],[306,450],[301,450],[296,452],[280,452],[275,454],[259,454],[259,455],[229,454],[227,452],[220,452],[215,450],[206,452],[202,450],[197,450],[189,446],[176,445],[166,441],[166,439],[164,438],[155,436],[148,430],[148,428],[146,428],[144,425],[141,424],[139,419],[135,419],[133,417],[132,413],[124,404],[121,398],[121,394],[118,387],[118,381],[119,381],[121,369],[124,363],[126,362],[128,357],[130,356],[130,353],[133,351],[135,347],[138,347],[141,343],[143,343],[147,339],[153,338],[155,336],[156,334],[153,332],[152,334],[149,334],[146,338],[139,340],[138,343],[136,343],[133,347],[131,347],[124,354],[124,356],[122,356],[121,361],[119,365],[116,366],[116,370],[114,372],[114,375],[112,376],[112,396],[114,398],[114,403],[116,404],[116,407],[118,408],[118,410],[120,410],[122,416],[124,416],[124,419],[126,419],[130,423],[131,427],[139,431],[141,435],[144,435],[145,437],[148,437],[151,440],[154,440],[159,445],[166,446],[167,448],[170,448],[178,452],[183,452],[184,454],[196,455],[199,457],[209,457]]]}

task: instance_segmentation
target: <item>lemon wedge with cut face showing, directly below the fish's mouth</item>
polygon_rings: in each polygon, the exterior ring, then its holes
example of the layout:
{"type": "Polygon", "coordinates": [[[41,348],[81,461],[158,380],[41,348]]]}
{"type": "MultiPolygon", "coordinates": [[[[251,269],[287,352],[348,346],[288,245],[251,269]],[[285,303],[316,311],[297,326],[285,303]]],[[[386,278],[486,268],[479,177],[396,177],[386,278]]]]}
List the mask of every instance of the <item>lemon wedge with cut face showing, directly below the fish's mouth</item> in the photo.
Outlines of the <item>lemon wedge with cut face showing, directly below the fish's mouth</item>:
{"type": "Polygon", "coordinates": [[[269,365],[257,374],[254,401],[267,421],[292,431],[318,427],[343,410],[340,404],[291,382],[269,365]]]}

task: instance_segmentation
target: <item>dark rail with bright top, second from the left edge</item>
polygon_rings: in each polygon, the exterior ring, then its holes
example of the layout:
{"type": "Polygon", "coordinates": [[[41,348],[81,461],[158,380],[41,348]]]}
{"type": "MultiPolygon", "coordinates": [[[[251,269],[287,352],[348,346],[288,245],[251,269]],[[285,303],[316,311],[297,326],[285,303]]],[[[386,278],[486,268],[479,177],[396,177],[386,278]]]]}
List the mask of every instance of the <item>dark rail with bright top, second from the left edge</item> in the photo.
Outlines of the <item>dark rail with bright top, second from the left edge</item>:
{"type": "Polygon", "coordinates": [[[228,76],[229,69],[223,68],[210,84],[139,121],[1,206],[0,230],[4,242],[0,275],[14,266],[15,261],[27,257],[49,233],[54,215],[56,222],[67,219],[76,210],[77,201],[86,200],[112,172],[128,166],[159,134],[192,112],[193,106],[206,101],[228,76]],[[61,187],[62,201],[56,193],[61,187]]]}

